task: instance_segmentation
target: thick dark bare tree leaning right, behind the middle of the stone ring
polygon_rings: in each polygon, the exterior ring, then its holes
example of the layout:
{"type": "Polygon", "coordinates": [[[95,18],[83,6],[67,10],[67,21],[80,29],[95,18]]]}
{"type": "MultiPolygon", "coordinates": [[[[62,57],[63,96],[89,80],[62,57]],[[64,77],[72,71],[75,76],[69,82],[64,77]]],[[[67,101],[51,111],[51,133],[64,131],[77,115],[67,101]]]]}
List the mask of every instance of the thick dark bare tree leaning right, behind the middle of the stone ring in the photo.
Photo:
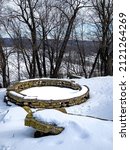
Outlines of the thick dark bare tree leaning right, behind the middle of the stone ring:
{"type": "MultiPolygon", "coordinates": [[[[53,73],[51,77],[58,77],[58,72],[63,60],[63,56],[66,50],[68,40],[74,25],[74,21],[77,17],[79,10],[87,6],[88,1],[82,0],[59,0],[56,1],[53,5],[59,12],[61,12],[60,17],[63,17],[64,22],[66,21],[66,27],[60,41],[60,46],[58,48],[58,55],[55,60],[55,66],[53,65],[53,73]]],[[[63,26],[63,23],[60,25],[63,26]]],[[[58,36],[59,37],[59,36],[58,36]]]]}

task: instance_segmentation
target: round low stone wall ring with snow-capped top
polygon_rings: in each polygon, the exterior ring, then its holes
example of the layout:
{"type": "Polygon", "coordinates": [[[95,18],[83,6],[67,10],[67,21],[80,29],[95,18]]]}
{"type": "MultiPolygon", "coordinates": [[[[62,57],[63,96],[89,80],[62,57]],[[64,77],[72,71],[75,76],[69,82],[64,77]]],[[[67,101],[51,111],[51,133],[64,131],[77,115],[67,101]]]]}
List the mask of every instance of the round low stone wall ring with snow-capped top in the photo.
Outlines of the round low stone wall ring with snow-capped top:
{"type": "Polygon", "coordinates": [[[15,103],[16,105],[29,106],[31,108],[61,108],[81,104],[89,97],[88,87],[85,87],[86,90],[76,97],[60,100],[39,100],[36,97],[28,97],[27,95],[20,93],[22,90],[28,88],[41,86],[66,87],[73,90],[79,90],[79,92],[82,91],[82,87],[74,81],[59,79],[32,79],[18,82],[10,86],[7,89],[8,101],[15,103]]]}

